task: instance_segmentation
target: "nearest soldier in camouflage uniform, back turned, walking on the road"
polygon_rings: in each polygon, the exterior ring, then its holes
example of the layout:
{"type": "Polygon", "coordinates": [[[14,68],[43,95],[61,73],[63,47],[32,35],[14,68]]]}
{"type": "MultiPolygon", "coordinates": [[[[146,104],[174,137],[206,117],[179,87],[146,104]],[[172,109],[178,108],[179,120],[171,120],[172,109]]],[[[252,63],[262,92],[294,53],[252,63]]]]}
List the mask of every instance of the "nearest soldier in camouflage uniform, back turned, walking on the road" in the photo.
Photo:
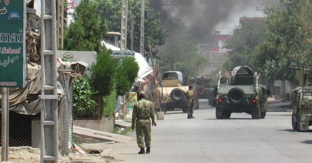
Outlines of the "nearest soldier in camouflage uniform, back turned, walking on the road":
{"type": "Polygon", "coordinates": [[[132,130],[136,129],[137,145],[140,148],[138,154],[145,154],[144,142],[146,146],[146,153],[151,151],[151,120],[152,126],[156,126],[155,111],[153,102],[145,99],[144,91],[140,91],[137,96],[137,102],[134,105],[132,112],[132,130]]]}

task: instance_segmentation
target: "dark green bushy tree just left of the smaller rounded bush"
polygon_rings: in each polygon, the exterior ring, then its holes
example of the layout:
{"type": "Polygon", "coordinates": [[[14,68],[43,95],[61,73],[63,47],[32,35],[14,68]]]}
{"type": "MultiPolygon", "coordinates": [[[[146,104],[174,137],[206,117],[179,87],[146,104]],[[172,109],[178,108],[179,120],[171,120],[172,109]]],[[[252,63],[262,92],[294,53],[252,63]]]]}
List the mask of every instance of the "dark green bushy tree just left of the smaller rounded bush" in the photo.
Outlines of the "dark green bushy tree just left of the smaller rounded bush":
{"type": "Polygon", "coordinates": [[[118,62],[112,58],[111,50],[102,50],[97,55],[97,63],[92,65],[91,83],[98,96],[108,96],[115,88],[118,62]]]}

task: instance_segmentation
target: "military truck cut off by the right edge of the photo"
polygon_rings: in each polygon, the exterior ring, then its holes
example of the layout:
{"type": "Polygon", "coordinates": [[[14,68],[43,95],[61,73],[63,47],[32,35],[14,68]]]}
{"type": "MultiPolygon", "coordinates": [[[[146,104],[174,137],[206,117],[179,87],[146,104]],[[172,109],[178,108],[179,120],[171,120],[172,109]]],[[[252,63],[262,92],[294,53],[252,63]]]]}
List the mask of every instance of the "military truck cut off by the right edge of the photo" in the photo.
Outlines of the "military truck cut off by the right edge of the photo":
{"type": "Polygon", "coordinates": [[[312,73],[296,70],[298,87],[290,95],[292,107],[292,129],[307,131],[312,125],[312,73]]]}

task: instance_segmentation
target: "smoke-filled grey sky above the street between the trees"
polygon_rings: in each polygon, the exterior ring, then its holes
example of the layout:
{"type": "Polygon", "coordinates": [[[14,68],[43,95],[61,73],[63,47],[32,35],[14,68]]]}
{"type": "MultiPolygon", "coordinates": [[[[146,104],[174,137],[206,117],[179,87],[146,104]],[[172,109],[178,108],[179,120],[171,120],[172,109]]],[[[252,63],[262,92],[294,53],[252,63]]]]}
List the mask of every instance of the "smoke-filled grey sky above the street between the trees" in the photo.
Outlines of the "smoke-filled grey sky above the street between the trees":
{"type": "MultiPolygon", "coordinates": [[[[232,34],[239,25],[239,17],[264,17],[266,7],[279,0],[149,0],[151,7],[160,12],[166,29],[175,27],[181,19],[198,38],[204,33],[232,34]]],[[[203,38],[204,39],[204,38],[203,38]]]]}

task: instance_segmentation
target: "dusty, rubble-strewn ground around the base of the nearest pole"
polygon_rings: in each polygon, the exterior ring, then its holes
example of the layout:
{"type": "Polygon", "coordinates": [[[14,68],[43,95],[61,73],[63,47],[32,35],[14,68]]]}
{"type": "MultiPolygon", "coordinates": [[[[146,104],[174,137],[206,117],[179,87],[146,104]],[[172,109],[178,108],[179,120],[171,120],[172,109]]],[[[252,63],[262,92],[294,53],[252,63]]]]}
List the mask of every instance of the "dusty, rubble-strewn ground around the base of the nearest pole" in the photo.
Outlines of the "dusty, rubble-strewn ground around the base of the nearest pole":
{"type": "MultiPolygon", "coordinates": [[[[68,156],[59,155],[59,163],[112,163],[114,158],[103,157],[99,154],[70,153],[68,156]]],[[[9,147],[8,162],[0,163],[40,163],[40,149],[32,147],[9,147]]]]}

